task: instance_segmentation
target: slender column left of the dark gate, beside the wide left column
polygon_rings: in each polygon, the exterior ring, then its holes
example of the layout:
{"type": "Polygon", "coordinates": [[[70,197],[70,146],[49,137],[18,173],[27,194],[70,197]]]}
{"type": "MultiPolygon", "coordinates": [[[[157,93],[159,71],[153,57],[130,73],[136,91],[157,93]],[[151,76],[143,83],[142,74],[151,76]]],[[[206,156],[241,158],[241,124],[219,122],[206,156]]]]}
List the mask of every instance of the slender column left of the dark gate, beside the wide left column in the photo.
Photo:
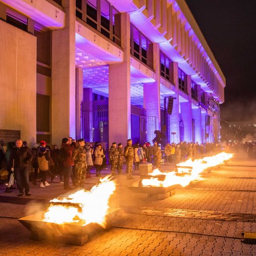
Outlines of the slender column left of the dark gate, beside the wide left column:
{"type": "Polygon", "coordinates": [[[81,68],[76,68],[76,139],[82,137],[81,134],[81,103],[83,101],[83,72],[81,68]]]}

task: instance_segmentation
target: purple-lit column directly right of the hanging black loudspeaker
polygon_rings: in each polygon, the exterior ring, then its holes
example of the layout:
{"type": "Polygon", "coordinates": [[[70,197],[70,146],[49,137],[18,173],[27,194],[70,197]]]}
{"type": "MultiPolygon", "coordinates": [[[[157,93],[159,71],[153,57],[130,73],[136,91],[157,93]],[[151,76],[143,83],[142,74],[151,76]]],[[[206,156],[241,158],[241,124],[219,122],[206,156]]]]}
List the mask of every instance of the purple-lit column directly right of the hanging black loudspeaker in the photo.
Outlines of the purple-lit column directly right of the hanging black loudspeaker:
{"type": "Polygon", "coordinates": [[[175,95],[174,99],[173,112],[172,115],[169,115],[169,141],[179,143],[180,142],[180,117],[179,117],[179,77],[178,77],[178,62],[172,62],[170,69],[170,75],[173,79],[175,85],[175,95]],[[171,133],[176,133],[172,135],[171,133]]]}

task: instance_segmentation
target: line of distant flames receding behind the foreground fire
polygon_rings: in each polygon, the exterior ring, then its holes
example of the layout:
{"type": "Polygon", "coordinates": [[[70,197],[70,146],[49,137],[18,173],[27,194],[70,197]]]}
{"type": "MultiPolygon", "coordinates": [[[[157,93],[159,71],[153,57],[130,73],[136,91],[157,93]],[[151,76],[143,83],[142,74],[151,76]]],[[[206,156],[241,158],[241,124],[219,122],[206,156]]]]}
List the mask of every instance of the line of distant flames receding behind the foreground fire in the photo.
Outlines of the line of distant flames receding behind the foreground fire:
{"type": "Polygon", "coordinates": [[[203,172],[204,169],[209,167],[213,167],[223,163],[225,160],[230,159],[233,154],[220,153],[212,157],[204,157],[203,159],[196,159],[194,161],[187,160],[183,163],[177,164],[178,174],[184,174],[183,176],[177,175],[175,172],[163,173],[160,172],[159,169],[155,169],[153,173],[148,174],[151,176],[157,175],[165,175],[165,179],[163,181],[158,180],[157,178],[151,179],[143,179],[143,186],[155,186],[155,187],[168,187],[176,184],[180,184],[181,186],[187,186],[193,180],[202,179],[200,177],[200,173],[203,172]],[[179,168],[179,166],[181,166],[179,168]],[[183,167],[190,166],[190,167],[183,167]]]}

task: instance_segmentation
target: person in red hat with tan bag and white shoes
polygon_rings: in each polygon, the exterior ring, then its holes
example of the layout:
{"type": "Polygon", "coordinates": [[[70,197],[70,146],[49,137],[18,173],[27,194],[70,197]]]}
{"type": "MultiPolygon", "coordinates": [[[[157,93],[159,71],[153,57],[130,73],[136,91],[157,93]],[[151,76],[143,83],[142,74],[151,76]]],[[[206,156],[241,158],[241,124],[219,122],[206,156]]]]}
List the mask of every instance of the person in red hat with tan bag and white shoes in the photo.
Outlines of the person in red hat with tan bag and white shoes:
{"type": "Polygon", "coordinates": [[[37,162],[38,162],[38,166],[40,169],[40,175],[41,175],[41,183],[39,185],[39,187],[47,187],[50,186],[50,184],[47,182],[46,180],[46,174],[49,170],[49,150],[47,150],[46,147],[40,146],[39,147],[39,152],[37,154],[37,162]]]}

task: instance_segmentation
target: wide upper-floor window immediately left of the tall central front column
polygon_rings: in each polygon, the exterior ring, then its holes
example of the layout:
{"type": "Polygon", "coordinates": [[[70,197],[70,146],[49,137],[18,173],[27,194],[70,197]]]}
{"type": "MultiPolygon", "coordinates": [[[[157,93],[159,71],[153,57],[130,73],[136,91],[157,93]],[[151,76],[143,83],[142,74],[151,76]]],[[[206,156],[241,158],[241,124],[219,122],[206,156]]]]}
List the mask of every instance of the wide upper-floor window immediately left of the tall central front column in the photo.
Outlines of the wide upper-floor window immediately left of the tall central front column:
{"type": "Polygon", "coordinates": [[[76,0],[76,17],[121,45],[120,12],[106,0],[76,0]]]}

